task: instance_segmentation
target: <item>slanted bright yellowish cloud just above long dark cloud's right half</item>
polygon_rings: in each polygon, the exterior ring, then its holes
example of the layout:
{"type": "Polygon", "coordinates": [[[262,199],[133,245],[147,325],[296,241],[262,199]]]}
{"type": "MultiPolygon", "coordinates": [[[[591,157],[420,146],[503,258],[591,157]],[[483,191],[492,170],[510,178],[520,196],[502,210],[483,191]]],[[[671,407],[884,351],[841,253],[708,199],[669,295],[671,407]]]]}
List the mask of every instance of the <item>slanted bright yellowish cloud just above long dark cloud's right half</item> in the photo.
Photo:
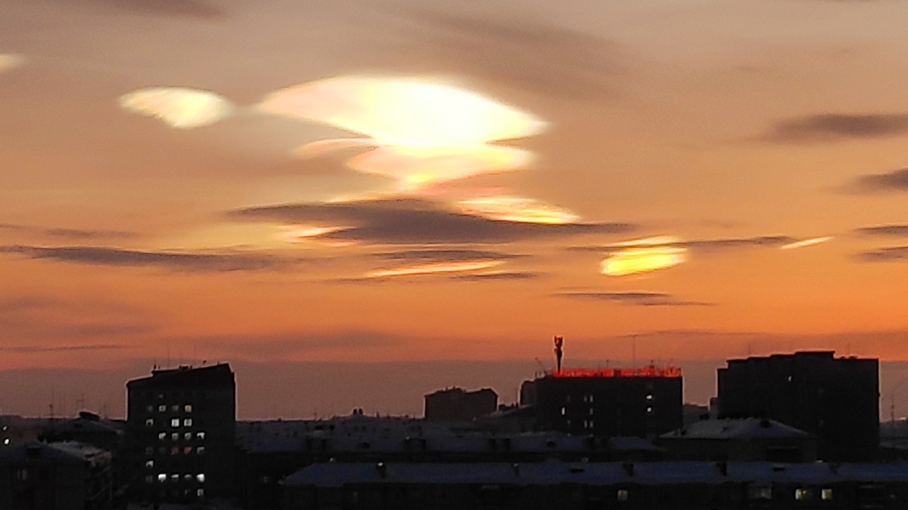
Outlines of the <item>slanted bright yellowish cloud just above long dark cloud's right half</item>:
{"type": "Polygon", "coordinates": [[[499,221],[522,221],[563,225],[580,220],[577,214],[548,203],[515,197],[496,195],[478,197],[457,202],[460,211],[499,221]]]}

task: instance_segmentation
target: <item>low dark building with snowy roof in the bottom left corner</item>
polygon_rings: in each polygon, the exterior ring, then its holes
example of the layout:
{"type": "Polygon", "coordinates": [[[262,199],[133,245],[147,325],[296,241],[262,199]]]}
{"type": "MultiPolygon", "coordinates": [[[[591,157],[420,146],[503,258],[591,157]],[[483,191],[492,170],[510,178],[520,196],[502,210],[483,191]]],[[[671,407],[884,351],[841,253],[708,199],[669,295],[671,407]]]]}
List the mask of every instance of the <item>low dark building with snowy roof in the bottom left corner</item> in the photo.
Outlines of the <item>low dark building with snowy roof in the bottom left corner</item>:
{"type": "Polygon", "coordinates": [[[38,443],[0,450],[0,508],[109,510],[111,455],[83,443],[38,443]]]}

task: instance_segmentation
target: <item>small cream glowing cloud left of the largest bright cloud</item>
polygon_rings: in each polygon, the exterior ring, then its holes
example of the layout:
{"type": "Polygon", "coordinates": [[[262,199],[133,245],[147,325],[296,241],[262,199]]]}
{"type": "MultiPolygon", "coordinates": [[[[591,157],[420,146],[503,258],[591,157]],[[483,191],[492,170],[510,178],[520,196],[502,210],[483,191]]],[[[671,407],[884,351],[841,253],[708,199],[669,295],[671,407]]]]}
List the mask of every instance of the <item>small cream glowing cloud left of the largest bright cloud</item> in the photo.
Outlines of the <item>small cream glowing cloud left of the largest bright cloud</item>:
{"type": "Polygon", "coordinates": [[[132,113],[154,117],[178,129],[215,123],[229,115],[232,104],[208,91],[184,88],[149,88],[120,97],[120,107],[132,113]]]}

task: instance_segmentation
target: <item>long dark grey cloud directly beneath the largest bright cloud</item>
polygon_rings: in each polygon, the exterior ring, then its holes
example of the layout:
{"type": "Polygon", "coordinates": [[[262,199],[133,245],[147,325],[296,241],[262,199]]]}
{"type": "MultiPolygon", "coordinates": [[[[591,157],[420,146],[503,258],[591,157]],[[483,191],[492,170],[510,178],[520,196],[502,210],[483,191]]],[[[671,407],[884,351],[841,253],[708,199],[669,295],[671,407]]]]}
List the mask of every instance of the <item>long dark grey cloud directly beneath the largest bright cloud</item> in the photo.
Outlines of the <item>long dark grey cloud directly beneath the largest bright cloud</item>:
{"type": "Polygon", "coordinates": [[[629,223],[490,220],[418,199],[272,205],[230,211],[227,216],[233,220],[352,225],[323,237],[389,244],[495,243],[636,229],[629,223]]]}

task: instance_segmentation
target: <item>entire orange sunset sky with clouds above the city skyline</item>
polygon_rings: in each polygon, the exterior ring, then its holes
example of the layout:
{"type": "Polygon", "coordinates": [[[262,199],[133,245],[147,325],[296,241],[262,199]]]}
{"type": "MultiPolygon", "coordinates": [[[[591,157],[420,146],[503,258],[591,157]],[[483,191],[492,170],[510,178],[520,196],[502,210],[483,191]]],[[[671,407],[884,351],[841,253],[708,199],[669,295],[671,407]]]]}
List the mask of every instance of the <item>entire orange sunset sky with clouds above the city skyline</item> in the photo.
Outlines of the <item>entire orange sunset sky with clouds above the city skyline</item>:
{"type": "MultiPolygon", "coordinates": [[[[512,400],[553,335],[568,366],[700,367],[699,402],[725,358],[899,367],[906,19],[898,0],[0,0],[0,378],[37,381],[0,409],[54,391],[74,412],[104,372],[122,413],[121,376],[222,360],[241,417],[370,410],[357,369],[400,367],[378,410],[415,414],[436,387],[500,386],[495,367],[518,367],[512,400]],[[292,367],[342,369],[275,391],[292,367]]],[[[883,368],[887,414],[908,414],[904,381],[883,368]]]]}

